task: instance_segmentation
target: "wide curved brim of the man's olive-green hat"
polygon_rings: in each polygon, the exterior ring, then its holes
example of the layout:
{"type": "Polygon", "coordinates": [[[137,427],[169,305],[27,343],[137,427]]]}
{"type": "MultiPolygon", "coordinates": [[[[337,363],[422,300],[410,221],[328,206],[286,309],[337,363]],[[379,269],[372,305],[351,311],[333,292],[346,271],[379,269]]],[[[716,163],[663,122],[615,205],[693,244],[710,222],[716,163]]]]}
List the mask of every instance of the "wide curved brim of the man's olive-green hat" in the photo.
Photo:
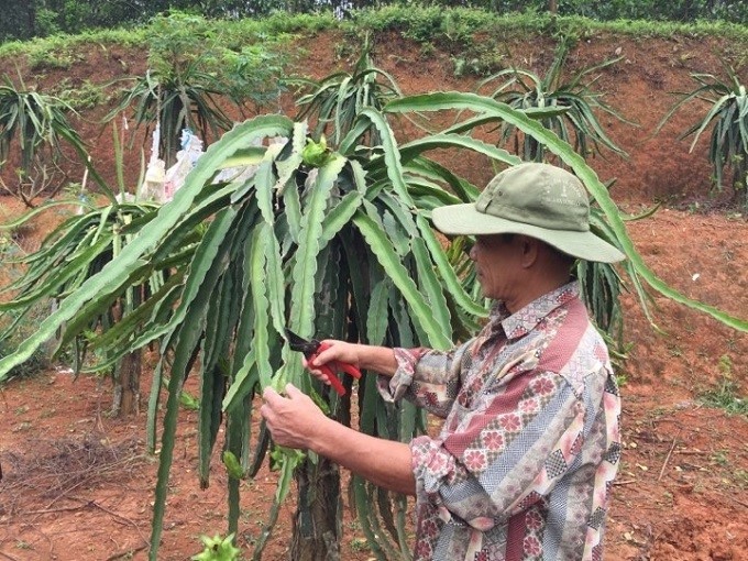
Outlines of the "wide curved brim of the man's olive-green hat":
{"type": "Polygon", "coordinates": [[[594,233],[551,230],[479,212],[475,205],[448,205],[431,212],[433,226],[450,235],[514,233],[535,238],[573,257],[601,263],[623,261],[626,255],[594,233]]]}

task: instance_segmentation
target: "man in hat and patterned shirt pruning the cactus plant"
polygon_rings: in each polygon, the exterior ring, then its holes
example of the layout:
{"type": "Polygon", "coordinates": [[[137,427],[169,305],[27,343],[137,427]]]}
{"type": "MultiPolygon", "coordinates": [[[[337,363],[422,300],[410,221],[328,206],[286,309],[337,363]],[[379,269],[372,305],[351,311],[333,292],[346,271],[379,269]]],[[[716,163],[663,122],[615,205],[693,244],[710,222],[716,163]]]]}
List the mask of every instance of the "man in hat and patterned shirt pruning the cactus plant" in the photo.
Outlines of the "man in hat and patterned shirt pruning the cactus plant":
{"type": "Polygon", "coordinates": [[[487,324],[450,352],[329,341],[331,360],[381,373],[388,399],[443,417],[410,443],[327,418],[293,385],[263,394],[275,442],[314,450],[370,481],[416,495],[417,560],[596,560],[620,452],[620,400],[608,352],[570,271],[624,255],[590,231],[572,174],[521,164],[477,201],[438,208],[446,234],[475,237],[471,258],[487,324]]]}

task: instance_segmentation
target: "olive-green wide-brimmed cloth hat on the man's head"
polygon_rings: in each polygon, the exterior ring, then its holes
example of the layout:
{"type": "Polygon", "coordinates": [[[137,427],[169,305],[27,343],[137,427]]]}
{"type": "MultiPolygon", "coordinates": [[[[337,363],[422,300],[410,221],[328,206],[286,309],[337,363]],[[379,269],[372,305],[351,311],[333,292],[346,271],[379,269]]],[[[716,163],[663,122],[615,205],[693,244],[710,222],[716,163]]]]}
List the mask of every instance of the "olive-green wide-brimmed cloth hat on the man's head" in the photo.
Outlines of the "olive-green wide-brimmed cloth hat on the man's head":
{"type": "Polygon", "coordinates": [[[586,261],[614,263],[626,257],[590,231],[590,200],[582,182],[550,164],[505,169],[474,204],[436,208],[432,219],[446,234],[516,233],[586,261]]]}

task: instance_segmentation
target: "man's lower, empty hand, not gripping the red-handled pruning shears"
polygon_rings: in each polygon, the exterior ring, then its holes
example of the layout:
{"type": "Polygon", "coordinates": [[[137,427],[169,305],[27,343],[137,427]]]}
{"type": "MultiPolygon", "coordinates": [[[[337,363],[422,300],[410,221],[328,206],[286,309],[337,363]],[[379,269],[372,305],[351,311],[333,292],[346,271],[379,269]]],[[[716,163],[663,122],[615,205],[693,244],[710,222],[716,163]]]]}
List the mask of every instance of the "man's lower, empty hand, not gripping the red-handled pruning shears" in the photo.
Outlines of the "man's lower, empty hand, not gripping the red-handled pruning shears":
{"type": "Polygon", "coordinates": [[[266,387],[260,414],[276,444],[301,450],[312,449],[329,419],[311,398],[293,384],[286,384],[286,397],[266,387]]]}

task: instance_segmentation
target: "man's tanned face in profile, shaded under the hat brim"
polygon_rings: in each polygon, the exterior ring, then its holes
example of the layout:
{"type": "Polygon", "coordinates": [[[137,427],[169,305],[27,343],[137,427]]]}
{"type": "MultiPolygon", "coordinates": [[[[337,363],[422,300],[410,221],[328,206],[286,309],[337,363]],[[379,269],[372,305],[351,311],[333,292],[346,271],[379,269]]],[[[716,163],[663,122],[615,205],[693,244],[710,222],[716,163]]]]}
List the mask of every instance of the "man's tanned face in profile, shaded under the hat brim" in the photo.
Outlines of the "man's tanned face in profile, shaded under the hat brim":
{"type": "Polygon", "coordinates": [[[509,300],[518,292],[521,272],[519,237],[476,235],[470,258],[475,262],[483,296],[509,300]]]}

